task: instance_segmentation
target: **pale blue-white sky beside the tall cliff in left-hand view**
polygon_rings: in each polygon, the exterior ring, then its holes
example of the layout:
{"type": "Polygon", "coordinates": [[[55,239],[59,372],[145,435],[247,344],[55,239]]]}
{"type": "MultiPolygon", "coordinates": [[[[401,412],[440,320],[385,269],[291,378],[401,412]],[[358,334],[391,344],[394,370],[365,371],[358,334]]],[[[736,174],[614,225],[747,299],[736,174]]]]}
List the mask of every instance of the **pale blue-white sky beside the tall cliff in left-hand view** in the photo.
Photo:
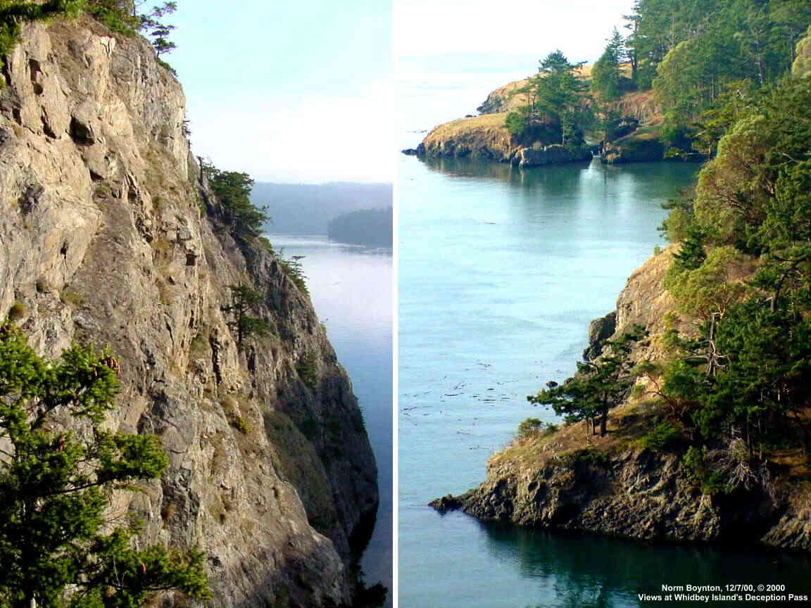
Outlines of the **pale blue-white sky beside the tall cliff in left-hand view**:
{"type": "Polygon", "coordinates": [[[263,181],[393,179],[388,2],[178,0],[167,20],[195,154],[263,181]]]}

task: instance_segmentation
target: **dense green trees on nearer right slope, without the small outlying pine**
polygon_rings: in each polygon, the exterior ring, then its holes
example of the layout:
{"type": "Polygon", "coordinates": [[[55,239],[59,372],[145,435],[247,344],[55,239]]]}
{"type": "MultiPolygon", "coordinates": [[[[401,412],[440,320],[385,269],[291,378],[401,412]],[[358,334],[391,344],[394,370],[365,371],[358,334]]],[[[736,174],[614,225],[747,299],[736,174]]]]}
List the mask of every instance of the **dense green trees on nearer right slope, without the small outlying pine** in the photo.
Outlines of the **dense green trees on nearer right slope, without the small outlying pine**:
{"type": "Polygon", "coordinates": [[[664,285],[699,332],[674,334],[660,394],[708,445],[735,436],[753,459],[775,446],[807,456],[811,83],[787,81],[726,113],[736,120],[693,202],[667,221],[685,228],[664,285]]]}

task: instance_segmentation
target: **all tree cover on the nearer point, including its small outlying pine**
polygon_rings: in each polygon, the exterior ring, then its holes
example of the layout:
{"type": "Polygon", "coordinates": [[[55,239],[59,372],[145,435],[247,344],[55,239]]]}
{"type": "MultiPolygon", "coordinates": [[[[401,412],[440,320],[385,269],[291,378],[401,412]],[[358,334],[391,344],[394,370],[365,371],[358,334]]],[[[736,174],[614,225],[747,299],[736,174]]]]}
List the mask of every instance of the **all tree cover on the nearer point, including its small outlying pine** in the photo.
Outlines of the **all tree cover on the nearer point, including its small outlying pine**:
{"type": "Polygon", "coordinates": [[[650,337],[665,355],[632,367],[647,336],[615,337],[528,399],[602,435],[609,409],[646,403],[640,446],[680,453],[703,493],[773,495],[811,467],[811,79],[731,86],[701,117],[717,153],[660,228],[676,245],[676,310],[650,337]]]}

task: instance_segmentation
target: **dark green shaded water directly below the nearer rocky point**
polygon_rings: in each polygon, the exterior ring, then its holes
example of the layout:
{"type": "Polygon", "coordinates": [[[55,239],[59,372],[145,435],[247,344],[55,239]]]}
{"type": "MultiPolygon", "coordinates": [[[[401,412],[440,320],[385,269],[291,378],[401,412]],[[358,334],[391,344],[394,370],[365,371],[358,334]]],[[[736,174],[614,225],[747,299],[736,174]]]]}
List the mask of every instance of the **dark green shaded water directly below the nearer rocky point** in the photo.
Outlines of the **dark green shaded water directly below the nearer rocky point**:
{"type": "MultiPolygon", "coordinates": [[[[787,590],[800,594],[809,590],[811,559],[804,554],[752,547],[656,546],[579,533],[479,526],[491,559],[516,563],[521,576],[553,591],[558,602],[554,606],[639,606],[638,594],[662,594],[662,584],[745,581],[785,584],[787,590]]],[[[753,606],[753,602],[723,602],[723,606],[753,606]]]]}

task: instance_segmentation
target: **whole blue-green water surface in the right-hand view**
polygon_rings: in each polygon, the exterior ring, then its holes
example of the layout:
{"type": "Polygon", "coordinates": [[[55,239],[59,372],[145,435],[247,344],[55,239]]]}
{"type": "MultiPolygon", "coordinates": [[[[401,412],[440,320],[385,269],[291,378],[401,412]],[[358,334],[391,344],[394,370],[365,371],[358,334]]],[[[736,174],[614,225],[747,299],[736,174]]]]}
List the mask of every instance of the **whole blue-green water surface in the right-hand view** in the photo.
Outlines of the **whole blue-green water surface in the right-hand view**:
{"type": "Polygon", "coordinates": [[[629,274],[661,244],[661,204],[695,169],[403,157],[401,608],[658,606],[637,594],[770,580],[811,593],[809,563],[792,556],[518,530],[426,506],[478,485],[521,420],[553,420],[526,395],[572,374],[589,321],[614,309],[629,274]]]}

